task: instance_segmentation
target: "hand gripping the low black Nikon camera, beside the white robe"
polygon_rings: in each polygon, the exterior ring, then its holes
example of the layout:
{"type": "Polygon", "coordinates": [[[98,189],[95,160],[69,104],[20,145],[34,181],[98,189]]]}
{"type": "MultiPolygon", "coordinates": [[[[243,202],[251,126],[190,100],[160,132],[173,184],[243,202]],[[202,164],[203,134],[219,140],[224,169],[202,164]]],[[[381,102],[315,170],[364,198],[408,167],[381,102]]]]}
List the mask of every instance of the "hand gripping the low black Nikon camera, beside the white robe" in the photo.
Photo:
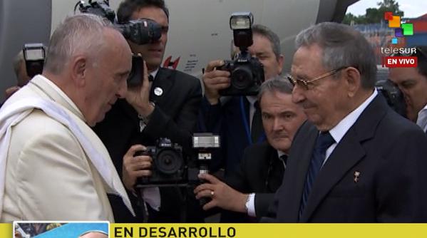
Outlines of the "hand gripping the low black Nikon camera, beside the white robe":
{"type": "Polygon", "coordinates": [[[145,146],[133,145],[123,157],[123,184],[128,190],[133,192],[135,192],[135,190],[133,190],[133,186],[135,185],[138,177],[151,175],[150,168],[151,163],[153,162],[151,157],[148,155],[133,157],[135,152],[140,150],[145,150],[145,146]]]}

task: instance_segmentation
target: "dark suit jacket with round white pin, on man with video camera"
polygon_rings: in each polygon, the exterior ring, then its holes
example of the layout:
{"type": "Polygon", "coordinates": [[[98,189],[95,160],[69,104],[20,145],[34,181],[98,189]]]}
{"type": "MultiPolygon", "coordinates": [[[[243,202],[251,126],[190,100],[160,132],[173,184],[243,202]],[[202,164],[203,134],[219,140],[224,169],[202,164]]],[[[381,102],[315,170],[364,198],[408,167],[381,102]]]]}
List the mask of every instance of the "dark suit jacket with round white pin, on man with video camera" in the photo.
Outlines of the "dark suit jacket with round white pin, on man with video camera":
{"type": "MultiPolygon", "coordinates": [[[[123,155],[132,145],[155,145],[155,140],[163,137],[170,138],[173,142],[182,145],[185,152],[190,153],[191,136],[196,129],[197,112],[201,99],[202,90],[197,78],[180,71],[160,68],[150,92],[150,101],[155,103],[155,110],[142,133],[140,133],[138,113],[126,100],[118,100],[106,114],[106,118],[98,123],[94,130],[106,145],[120,177],[122,176],[123,155]],[[155,88],[162,88],[163,94],[155,95],[155,88]]],[[[174,192],[170,190],[162,189],[160,193],[162,197],[160,213],[168,214],[160,216],[165,218],[163,222],[178,222],[179,214],[174,214],[176,219],[169,214],[171,208],[173,211],[177,211],[176,207],[181,205],[179,201],[173,201],[178,200],[176,199],[178,196],[175,195],[171,199],[170,194],[174,194],[174,192]]],[[[135,197],[133,195],[130,197],[133,197],[133,202],[135,202],[135,197]]],[[[115,222],[142,222],[140,217],[134,219],[120,200],[114,197],[110,202],[115,222]]],[[[140,211],[139,207],[136,209],[140,211]]],[[[157,217],[157,214],[152,217],[157,217]]]]}

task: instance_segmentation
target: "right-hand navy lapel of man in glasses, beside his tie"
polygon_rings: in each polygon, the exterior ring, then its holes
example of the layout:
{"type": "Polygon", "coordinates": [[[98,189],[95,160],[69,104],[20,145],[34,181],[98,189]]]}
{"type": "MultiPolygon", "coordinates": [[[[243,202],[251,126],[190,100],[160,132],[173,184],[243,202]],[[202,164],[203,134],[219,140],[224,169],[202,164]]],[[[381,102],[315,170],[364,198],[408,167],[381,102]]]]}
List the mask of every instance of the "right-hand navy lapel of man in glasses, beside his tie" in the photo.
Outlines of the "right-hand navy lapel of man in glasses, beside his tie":
{"type": "MultiPolygon", "coordinates": [[[[362,144],[365,140],[374,137],[377,125],[388,109],[384,98],[377,95],[361,113],[356,123],[347,131],[317,175],[301,222],[309,220],[314,210],[334,185],[347,174],[351,167],[354,167],[359,160],[364,158],[366,152],[362,144]]],[[[304,175],[307,174],[307,169],[304,175]]]]}

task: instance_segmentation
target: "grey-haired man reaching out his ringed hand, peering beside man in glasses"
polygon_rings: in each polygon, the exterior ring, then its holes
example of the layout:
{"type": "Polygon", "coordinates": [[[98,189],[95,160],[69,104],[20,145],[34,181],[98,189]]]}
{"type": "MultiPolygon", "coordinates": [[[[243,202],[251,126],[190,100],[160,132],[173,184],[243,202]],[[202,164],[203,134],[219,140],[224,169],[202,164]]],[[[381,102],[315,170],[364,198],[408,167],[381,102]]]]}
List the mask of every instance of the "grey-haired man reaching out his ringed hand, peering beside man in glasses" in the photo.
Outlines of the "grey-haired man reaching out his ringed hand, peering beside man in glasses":
{"type": "Polygon", "coordinates": [[[267,213],[274,192],[282,184],[292,138],[306,120],[302,107],[292,103],[291,93],[291,83],[279,76],[262,83],[258,100],[268,143],[249,146],[240,170],[229,175],[226,183],[212,175],[201,175],[210,183],[195,188],[196,198],[212,198],[203,209],[228,210],[222,212],[222,222],[248,222],[254,220],[249,217],[267,213]]]}

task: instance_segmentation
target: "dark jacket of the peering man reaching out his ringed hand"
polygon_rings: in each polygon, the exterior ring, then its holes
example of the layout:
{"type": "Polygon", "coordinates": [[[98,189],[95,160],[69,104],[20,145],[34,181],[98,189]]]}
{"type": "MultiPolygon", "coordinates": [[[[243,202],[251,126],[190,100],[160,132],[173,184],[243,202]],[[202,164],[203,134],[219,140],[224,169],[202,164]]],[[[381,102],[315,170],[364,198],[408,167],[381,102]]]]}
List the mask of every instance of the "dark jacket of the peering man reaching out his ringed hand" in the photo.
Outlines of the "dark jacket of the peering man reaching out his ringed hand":
{"type": "MultiPolygon", "coordinates": [[[[277,150],[267,142],[246,148],[240,170],[227,177],[227,185],[243,193],[255,193],[257,217],[267,214],[274,192],[282,184],[284,167],[277,150]]],[[[222,212],[221,222],[249,222],[247,214],[222,212]]],[[[253,220],[252,220],[253,221],[253,220]]]]}

